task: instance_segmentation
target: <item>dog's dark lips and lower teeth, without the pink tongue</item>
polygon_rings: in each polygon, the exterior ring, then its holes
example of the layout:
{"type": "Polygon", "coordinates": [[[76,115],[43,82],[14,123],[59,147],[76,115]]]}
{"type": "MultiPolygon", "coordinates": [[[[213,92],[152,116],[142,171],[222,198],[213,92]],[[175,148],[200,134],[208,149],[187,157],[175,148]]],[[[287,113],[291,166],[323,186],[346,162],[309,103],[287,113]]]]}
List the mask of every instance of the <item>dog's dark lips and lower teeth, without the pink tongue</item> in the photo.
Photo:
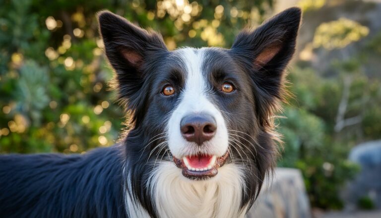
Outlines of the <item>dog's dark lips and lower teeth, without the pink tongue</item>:
{"type": "Polygon", "coordinates": [[[176,166],[180,169],[182,169],[182,173],[185,177],[189,179],[194,179],[194,180],[200,180],[200,179],[207,179],[211,178],[218,173],[218,168],[223,166],[228,159],[229,156],[229,151],[226,151],[224,155],[222,156],[215,156],[211,154],[198,154],[198,155],[210,155],[210,160],[207,165],[207,167],[203,168],[194,168],[191,166],[191,164],[188,162],[188,156],[183,157],[183,158],[177,158],[173,157],[173,161],[175,162],[176,166]]]}

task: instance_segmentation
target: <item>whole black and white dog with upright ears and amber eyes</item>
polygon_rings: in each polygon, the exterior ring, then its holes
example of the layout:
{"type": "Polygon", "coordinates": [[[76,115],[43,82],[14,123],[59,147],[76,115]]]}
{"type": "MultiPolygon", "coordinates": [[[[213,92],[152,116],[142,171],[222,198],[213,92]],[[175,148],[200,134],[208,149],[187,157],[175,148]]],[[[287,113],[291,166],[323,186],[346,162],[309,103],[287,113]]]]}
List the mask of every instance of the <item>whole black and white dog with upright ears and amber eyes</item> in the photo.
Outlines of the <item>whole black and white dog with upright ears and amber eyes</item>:
{"type": "Polygon", "coordinates": [[[231,49],[168,51],[99,14],[132,129],[84,155],[0,156],[1,218],[238,218],[275,164],[273,117],[301,20],[287,9],[231,49]]]}

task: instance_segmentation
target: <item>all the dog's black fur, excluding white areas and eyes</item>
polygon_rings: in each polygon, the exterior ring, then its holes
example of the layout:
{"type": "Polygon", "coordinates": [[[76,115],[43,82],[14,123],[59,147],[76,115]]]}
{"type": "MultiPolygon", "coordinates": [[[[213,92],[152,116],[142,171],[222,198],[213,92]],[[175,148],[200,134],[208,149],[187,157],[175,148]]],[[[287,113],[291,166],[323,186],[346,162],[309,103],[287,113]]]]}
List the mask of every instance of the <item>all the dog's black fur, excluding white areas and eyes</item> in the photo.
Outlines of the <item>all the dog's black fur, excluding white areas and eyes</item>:
{"type": "MultiPolygon", "coordinates": [[[[295,50],[300,19],[300,9],[290,8],[256,30],[240,33],[231,49],[206,52],[202,69],[208,96],[236,135],[230,136],[231,155],[247,166],[242,208],[254,203],[275,165],[277,138],[271,117],[284,95],[283,71],[295,50]],[[237,91],[222,94],[218,87],[225,81],[237,91]]],[[[120,145],[85,155],[1,156],[0,217],[127,217],[126,184],[135,201],[157,217],[145,182],[157,158],[172,161],[172,156],[166,149],[153,150],[164,139],[149,143],[165,132],[168,116],[179,104],[186,68],[158,33],[110,12],[101,12],[99,23],[107,58],[116,71],[119,100],[132,118],[131,130],[120,145]],[[171,97],[160,94],[168,83],[178,90],[171,97]]]]}

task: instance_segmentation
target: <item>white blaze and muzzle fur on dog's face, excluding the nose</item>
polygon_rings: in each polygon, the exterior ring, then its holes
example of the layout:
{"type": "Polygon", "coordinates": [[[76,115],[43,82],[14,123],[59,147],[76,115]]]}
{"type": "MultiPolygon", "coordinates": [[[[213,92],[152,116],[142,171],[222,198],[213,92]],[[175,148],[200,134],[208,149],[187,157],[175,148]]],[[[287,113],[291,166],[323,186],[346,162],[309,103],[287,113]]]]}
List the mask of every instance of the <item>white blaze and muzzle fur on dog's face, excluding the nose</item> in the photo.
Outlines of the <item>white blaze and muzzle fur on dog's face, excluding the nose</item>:
{"type": "Polygon", "coordinates": [[[185,87],[180,93],[180,104],[172,112],[167,126],[168,145],[177,158],[199,151],[222,156],[228,149],[228,132],[224,118],[217,106],[208,99],[209,85],[205,78],[207,72],[202,71],[206,50],[207,48],[184,48],[176,51],[187,71],[185,87]],[[202,146],[186,141],[180,132],[182,118],[195,113],[212,115],[217,124],[215,136],[202,146]]]}

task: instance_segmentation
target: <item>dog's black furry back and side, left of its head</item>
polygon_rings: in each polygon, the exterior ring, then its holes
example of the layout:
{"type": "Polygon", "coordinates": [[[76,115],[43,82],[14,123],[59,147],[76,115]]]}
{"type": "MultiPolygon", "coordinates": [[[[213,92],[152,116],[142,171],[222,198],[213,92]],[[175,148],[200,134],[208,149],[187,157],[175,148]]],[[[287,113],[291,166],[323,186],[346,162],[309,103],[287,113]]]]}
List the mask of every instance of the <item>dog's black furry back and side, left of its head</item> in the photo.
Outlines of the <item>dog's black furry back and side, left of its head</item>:
{"type": "Polygon", "coordinates": [[[120,153],[0,156],[0,217],[126,217],[120,153]]]}

